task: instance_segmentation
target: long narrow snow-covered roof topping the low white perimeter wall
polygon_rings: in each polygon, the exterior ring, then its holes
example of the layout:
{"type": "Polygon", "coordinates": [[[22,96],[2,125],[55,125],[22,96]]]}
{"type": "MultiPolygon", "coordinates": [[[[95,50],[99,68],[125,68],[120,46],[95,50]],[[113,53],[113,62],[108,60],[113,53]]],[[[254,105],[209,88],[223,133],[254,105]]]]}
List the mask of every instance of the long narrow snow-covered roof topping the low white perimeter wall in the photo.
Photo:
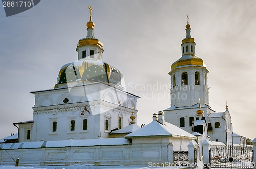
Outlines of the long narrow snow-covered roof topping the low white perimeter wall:
{"type": "Polygon", "coordinates": [[[1,144],[4,149],[31,149],[42,147],[82,147],[82,146],[110,146],[129,145],[125,138],[97,138],[97,139],[69,139],[45,142],[24,142],[1,144]]]}

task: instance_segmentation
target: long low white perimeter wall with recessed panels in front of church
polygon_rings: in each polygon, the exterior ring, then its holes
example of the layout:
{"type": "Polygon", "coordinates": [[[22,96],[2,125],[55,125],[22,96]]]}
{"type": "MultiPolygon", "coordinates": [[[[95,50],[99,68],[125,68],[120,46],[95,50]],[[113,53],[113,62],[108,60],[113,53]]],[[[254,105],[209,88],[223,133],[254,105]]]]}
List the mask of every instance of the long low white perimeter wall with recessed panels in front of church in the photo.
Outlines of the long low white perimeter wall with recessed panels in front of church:
{"type": "MultiPolygon", "coordinates": [[[[184,138],[152,138],[138,139],[138,142],[134,142],[132,145],[42,147],[7,149],[7,151],[15,159],[19,158],[21,166],[74,164],[147,165],[150,161],[154,163],[168,161],[168,140],[172,140],[174,148],[177,147],[175,150],[187,150],[187,145],[190,141],[184,138]]],[[[0,150],[0,165],[11,164],[14,164],[11,157],[4,150],[0,150]]]]}

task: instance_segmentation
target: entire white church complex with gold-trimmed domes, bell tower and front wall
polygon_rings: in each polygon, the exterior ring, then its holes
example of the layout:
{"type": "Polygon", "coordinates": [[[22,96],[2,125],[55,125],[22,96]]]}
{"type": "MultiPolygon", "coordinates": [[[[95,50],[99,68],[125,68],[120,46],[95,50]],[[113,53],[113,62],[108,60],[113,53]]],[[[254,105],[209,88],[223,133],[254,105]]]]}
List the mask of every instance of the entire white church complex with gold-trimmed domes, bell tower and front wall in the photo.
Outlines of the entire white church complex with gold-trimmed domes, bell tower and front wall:
{"type": "Polygon", "coordinates": [[[43,166],[177,164],[177,152],[195,164],[204,160],[205,140],[232,144],[228,107],[215,112],[209,106],[209,71],[195,55],[188,23],[182,57],[169,72],[171,106],[152,112],[153,121],[141,127],[136,124],[140,97],[126,92],[122,73],[102,61],[103,43],[94,37],[89,9],[78,60],[60,68],[53,89],[31,92],[33,120],[14,123],[18,134],[0,140],[0,165],[12,165],[16,158],[20,165],[43,166]]]}

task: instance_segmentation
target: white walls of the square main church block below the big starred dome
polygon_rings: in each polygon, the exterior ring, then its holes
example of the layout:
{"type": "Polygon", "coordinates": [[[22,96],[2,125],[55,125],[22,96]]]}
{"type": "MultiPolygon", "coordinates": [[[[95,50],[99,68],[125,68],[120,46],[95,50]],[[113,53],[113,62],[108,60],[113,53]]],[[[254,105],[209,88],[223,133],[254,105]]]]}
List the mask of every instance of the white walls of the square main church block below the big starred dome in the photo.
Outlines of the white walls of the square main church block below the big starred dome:
{"type": "MultiPolygon", "coordinates": [[[[81,85],[81,84],[80,84],[81,85]]],[[[103,83],[39,91],[35,94],[34,124],[31,141],[108,138],[111,130],[129,125],[132,106],[136,109],[137,97],[103,83]],[[84,111],[84,108],[90,111],[84,111]],[[82,130],[83,119],[88,120],[87,130],[82,130]],[[105,130],[105,120],[109,130],[105,130]],[[71,121],[75,130],[71,131],[71,121]],[[53,131],[53,122],[57,130],[53,131]]],[[[135,111],[135,116],[137,110],[135,111]]],[[[21,132],[20,132],[21,134],[21,132]]],[[[23,134],[23,136],[25,136],[23,134]]],[[[22,139],[20,142],[29,140],[22,139]]]]}

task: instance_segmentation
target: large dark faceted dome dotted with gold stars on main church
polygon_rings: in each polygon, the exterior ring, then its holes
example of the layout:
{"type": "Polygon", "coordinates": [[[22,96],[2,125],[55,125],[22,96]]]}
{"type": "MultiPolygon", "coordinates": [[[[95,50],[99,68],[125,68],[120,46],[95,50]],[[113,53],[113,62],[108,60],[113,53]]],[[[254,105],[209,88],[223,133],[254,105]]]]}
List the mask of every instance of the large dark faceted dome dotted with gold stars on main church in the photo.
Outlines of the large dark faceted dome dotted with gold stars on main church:
{"type": "Polygon", "coordinates": [[[60,68],[55,88],[58,88],[61,84],[75,81],[101,81],[121,86],[121,79],[121,72],[108,63],[81,59],[76,62],[63,65],[60,68]]]}

